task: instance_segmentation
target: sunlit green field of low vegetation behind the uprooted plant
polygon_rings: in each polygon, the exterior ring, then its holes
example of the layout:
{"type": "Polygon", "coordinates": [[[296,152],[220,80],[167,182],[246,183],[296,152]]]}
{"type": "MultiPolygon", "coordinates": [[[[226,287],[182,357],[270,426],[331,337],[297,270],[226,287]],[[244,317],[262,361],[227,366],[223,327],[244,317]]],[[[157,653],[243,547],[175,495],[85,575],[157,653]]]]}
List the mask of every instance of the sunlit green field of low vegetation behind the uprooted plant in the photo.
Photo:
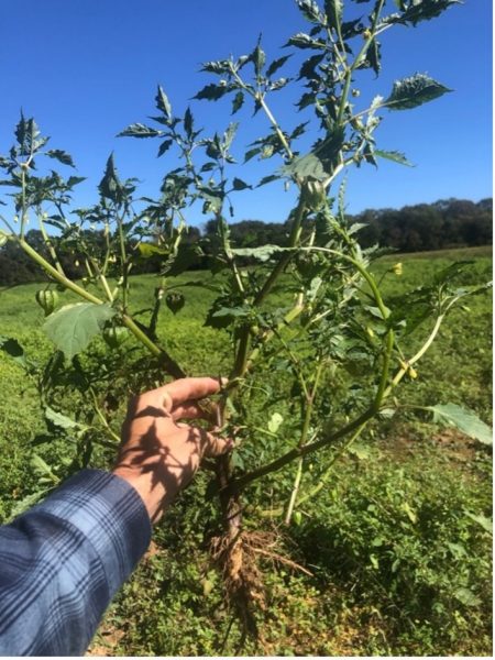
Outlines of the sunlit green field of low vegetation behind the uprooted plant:
{"type": "MultiPolygon", "coordinates": [[[[375,274],[378,278],[384,275],[385,302],[460,258],[473,262],[460,284],[491,278],[488,249],[382,258],[375,274]],[[386,273],[391,263],[398,261],[403,274],[386,273]]],[[[133,300],[140,308],[152,304],[153,278],[131,279],[133,300]]],[[[212,276],[186,273],[177,284],[198,278],[205,282],[212,276]]],[[[0,292],[0,333],[15,337],[32,364],[29,376],[22,365],[0,352],[0,521],[50,491],[81,460],[76,451],[77,428],[64,429],[56,419],[47,419],[41,405],[36,364],[43,365],[53,346],[42,331],[43,314],[34,301],[37,288],[30,284],[0,292]]],[[[209,298],[205,289],[183,290],[184,309],[175,316],[163,311],[158,338],[166,340],[187,373],[224,373],[230,344],[201,320],[215,294],[209,298]]],[[[271,304],[282,305],[285,296],[280,279],[271,304]]],[[[69,293],[62,298],[61,304],[73,299],[69,293]]],[[[248,501],[265,504],[265,509],[255,512],[251,537],[253,571],[258,571],[263,584],[257,640],[242,638],[211,559],[209,543],[218,519],[209,504],[210,480],[204,471],[156,528],[148,553],[107,613],[90,652],[491,654],[490,449],[459,431],[432,425],[430,415],[415,408],[462,404],[491,422],[490,295],[471,297],[468,305],[448,317],[433,348],[418,364],[417,378],[404,388],[406,406],[400,413],[374,421],[324,474],[319,458],[309,462],[301,492],[311,495],[318,491],[318,497],[308,496],[290,526],[283,525],[278,509],[290,492],[294,466],[271,474],[248,491],[248,501]]],[[[135,360],[140,351],[131,339],[110,351],[96,338],[81,360],[105,391],[110,363],[135,360]]],[[[268,374],[270,406],[266,392],[251,393],[250,406],[263,428],[276,411],[289,436],[292,402],[277,394],[283,380],[280,371],[268,374]]],[[[158,381],[154,373],[150,384],[158,381]]],[[[332,387],[326,385],[328,399],[332,387]]],[[[132,388],[132,383],[123,383],[122,400],[106,400],[116,409],[114,430],[132,388]]],[[[57,411],[77,420],[85,402],[75,391],[74,399],[67,388],[64,393],[57,411]]],[[[90,465],[109,466],[113,451],[98,446],[90,465]]],[[[248,530],[249,509],[244,517],[248,530]]]]}

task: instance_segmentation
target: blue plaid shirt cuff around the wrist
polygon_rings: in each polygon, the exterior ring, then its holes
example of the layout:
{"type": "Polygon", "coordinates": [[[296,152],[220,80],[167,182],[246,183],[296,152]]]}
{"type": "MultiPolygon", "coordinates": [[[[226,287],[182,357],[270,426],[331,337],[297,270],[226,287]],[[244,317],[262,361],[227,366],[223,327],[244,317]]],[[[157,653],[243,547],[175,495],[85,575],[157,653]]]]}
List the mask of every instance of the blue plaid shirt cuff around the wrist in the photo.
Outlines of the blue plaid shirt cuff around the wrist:
{"type": "Polygon", "coordinates": [[[142,498],[110,472],[82,470],[35,508],[80,530],[101,561],[110,597],[150,544],[152,527],[142,498]]]}

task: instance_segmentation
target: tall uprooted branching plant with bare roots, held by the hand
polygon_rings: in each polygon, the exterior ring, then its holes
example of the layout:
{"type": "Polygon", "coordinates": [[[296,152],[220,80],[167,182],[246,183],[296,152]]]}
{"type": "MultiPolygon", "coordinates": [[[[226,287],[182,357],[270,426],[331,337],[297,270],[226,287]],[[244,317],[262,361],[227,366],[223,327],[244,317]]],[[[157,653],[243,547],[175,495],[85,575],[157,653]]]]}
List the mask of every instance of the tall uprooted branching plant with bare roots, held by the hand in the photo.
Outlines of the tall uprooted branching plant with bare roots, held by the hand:
{"type": "MultiPolygon", "coordinates": [[[[14,145],[0,156],[0,183],[15,207],[14,217],[1,216],[0,239],[16,242],[46,275],[36,301],[56,350],[38,384],[51,427],[77,439],[79,463],[90,460],[95,447],[111,448],[118,441],[119,420],[111,404],[122,394],[119,383],[139,391],[165,374],[186,375],[173,354],[166,319],[187,306],[187,285],[216,292],[204,321],[218,331],[231,361],[228,384],[208,413],[221,431],[235,438],[235,448],[209,465],[207,495],[218,502],[223,520],[213,553],[246,628],[254,620],[252,602],[260,598],[250,553],[256,517],[297,521],[304,503],[318,497],[350,444],[373,420],[400,409],[399,385],[417,377],[417,364],[452,307],[481,288],[459,288],[455,277],[465,264],[455,264],[428,286],[385,299],[371,270],[381,252],[360,248],[360,227],[350,224],[339,185],[350,167],[376,166],[383,158],[409,164],[402,153],[377,145],[382,121],[389,112],[414,111],[450,90],[421,73],[383,89],[386,33],[437,19],[457,0],[296,4],[301,31],[289,36],[282,56],[271,59],[258,40],[251,53],[207,62],[201,70],[211,81],[196,94],[193,109],[177,112],[158,86],[151,120],[122,130],[121,136],[157,143],[158,163],[168,169],[155,199],[138,198],[138,179],[121,180],[111,155],[98,202],[73,209],[73,190],[82,179],[50,167],[40,174],[50,160],[64,172],[74,167],[72,156],[48,147],[34,119],[22,114],[14,145]],[[363,76],[375,78],[372,98],[360,90],[363,76]],[[272,103],[284,95],[290,107],[297,95],[294,112],[284,113],[286,125],[272,103]],[[263,116],[264,134],[246,151],[238,144],[235,121],[206,134],[197,119],[205,102],[230,105],[234,118],[263,116]],[[273,163],[272,173],[255,183],[232,176],[240,155],[251,165],[260,162],[263,173],[273,163]],[[235,213],[235,194],[263,196],[268,185],[278,185],[280,194],[285,186],[295,197],[286,244],[233,244],[229,219],[235,213]],[[201,256],[199,245],[186,240],[191,207],[215,222],[216,235],[208,245],[215,276],[201,282],[196,274],[179,287],[175,277],[201,256]],[[26,240],[29,222],[41,232],[38,249],[26,240]],[[62,248],[77,257],[82,278],[65,271],[62,248]],[[154,304],[132,314],[133,268],[151,257],[161,264],[154,304]],[[57,292],[64,290],[79,301],[61,306],[57,292]],[[105,373],[92,373],[84,356],[99,333],[113,358],[105,363],[105,373]],[[132,361],[129,355],[136,345],[145,351],[132,361]],[[61,388],[84,394],[86,408],[76,419],[53,398],[51,393],[61,388]]],[[[397,264],[385,276],[399,273],[397,264]]],[[[15,339],[3,338],[1,345],[33,372],[15,339]]],[[[209,373],[208,363],[202,373],[209,373]]],[[[437,421],[490,441],[486,427],[457,405],[439,402],[427,410],[437,421]]]]}

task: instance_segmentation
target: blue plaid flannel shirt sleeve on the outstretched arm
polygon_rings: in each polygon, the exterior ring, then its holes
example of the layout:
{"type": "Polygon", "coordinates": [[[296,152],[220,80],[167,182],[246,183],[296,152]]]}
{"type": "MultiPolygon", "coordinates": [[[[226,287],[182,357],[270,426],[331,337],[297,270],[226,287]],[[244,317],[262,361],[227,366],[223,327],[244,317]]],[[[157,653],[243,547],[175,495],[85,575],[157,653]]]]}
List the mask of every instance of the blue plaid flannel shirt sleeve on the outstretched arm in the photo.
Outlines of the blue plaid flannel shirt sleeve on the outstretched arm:
{"type": "Polygon", "coordinates": [[[82,656],[150,539],[141,497],[99,470],[0,527],[0,654],[82,656]]]}

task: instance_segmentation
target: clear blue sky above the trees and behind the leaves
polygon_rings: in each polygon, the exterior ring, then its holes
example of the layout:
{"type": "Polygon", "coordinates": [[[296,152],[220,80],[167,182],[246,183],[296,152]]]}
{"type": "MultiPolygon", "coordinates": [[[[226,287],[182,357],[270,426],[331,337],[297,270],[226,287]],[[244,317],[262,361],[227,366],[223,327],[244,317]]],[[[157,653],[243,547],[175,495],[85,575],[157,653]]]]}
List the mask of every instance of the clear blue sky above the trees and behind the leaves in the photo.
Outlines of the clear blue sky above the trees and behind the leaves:
{"type": "MultiPolygon", "coordinates": [[[[367,7],[351,4],[363,13],[367,7]]],[[[175,166],[173,160],[156,160],[156,141],[116,134],[153,114],[156,85],[164,86],[183,113],[210,81],[198,73],[201,62],[250,53],[260,32],[268,58],[279,57],[288,36],[307,30],[293,0],[1,2],[0,153],[12,143],[22,107],[52,136],[51,146],[72,153],[77,174],[88,177],[76,205],[96,201],[95,188],[111,151],[121,176],[138,176],[143,194],[153,195],[163,174],[175,166]]],[[[290,73],[290,63],[285,70],[290,73]]],[[[352,213],[448,197],[492,196],[492,2],[466,0],[417,29],[384,34],[383,74],[377,80],[371,73],[363,75],[361,99],[386,96],[394,79],[416,72],[428,73],[454,92],[411,111],[384,111],[378,146],[404,152],[416,167],[385,162],[378,170],[373,166],[351,170],[352,213]]],[[[283,94],[275,110],[283,127],[290,129],[304,117],[284,106],[283,94]]],[[[200,125],[222,130],[230,101],[194,101],[193,110],[200,125]]],[[[235,119],[246,122],[234,147],[242,160],[245,144],[267,130],[261,113],[252,120],[243,109],[235,119]]],[[[233,174],[255,183],[275,165],[274,160],[258,170],[239,168],[233,174]]],[[[293,201],[280,183],[241,193],[235,220],[282,221],[293,201]]],[[[206,218],[193,213],[190,220],[200,224],[206,218]]]]}

